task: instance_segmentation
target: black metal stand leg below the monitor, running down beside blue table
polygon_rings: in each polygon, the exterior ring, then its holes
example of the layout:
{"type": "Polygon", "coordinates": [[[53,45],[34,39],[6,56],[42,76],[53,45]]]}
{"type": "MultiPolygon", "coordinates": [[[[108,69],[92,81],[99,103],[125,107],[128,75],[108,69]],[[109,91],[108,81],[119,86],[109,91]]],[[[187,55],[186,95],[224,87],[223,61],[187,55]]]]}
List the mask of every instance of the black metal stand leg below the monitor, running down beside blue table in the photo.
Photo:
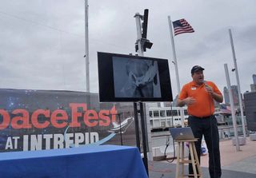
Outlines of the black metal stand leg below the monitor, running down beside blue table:
{"type": "Polygon", "coordinates": [[[140,113],[141,113],[141,122],[142,122],[142,142],[143,142],[143,163],[146,168],[146,173],[149,175],[149,168],[147,162],[147,151],[146,151],[146,125],[145,125],[145,115],[143,103],[139,102],[140,113]]]}

